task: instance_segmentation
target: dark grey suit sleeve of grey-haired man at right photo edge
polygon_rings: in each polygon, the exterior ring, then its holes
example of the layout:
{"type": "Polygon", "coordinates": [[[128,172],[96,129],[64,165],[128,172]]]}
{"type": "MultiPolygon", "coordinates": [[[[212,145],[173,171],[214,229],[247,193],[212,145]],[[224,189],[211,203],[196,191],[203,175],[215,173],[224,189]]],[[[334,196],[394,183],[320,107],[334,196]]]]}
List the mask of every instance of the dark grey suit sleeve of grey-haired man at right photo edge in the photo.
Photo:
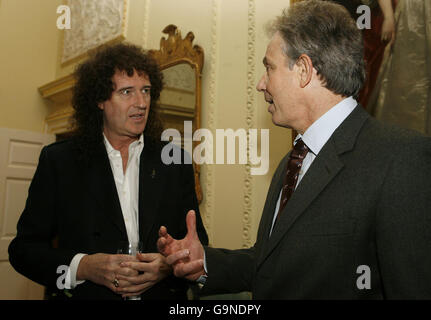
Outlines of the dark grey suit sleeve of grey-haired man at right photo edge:
{"type": "Polygon", "coordinates": [[[431,299],[431,139],[394,155],[376,211],[376,245],[387,299],[431,299]]]}

